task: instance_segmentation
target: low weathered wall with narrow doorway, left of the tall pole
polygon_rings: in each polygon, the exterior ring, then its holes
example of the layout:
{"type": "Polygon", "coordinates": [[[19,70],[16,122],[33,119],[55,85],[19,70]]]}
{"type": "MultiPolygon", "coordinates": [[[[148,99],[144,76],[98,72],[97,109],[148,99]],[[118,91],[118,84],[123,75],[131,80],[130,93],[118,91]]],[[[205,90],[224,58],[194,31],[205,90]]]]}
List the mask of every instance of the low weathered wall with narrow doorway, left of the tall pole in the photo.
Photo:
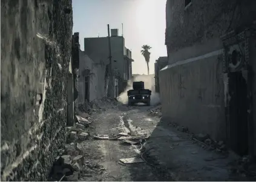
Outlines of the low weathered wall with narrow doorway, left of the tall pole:
{"type": "Polygon", "coordinates": [[[78,79],[78,103],[85,102],[85,76],[84,70],[90,70],[90,99],[100,99],[105,96],[105,71],[104,62],[94,62],[84,51],[79,52],[79,79],[78,79]]]}

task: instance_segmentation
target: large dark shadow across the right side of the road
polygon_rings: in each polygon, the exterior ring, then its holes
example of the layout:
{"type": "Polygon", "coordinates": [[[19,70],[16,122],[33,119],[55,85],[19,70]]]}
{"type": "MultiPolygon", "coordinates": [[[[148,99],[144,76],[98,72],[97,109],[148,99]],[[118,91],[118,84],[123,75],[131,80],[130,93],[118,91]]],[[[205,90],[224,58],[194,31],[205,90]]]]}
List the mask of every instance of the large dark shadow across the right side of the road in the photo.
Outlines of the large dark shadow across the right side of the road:
{"type": "MultiPolygon", "coordinates": [[[[203,149],[191,134],[177,131],[160,120],[145,143],[143,155],[154,176],[145,179],[143,166],[130,167],[133,181],[232,181],[230,165],[237,155],[203,149]]],[[[139,156],[138,156],[139,157],[139,156]]],[[[238,178],[236,178],[238,180],[238,178]]],[[[240,180],[252,181],[250,178],[240,180]]],[[[255,179],[253,179],[255,180],[255,179]]]]}

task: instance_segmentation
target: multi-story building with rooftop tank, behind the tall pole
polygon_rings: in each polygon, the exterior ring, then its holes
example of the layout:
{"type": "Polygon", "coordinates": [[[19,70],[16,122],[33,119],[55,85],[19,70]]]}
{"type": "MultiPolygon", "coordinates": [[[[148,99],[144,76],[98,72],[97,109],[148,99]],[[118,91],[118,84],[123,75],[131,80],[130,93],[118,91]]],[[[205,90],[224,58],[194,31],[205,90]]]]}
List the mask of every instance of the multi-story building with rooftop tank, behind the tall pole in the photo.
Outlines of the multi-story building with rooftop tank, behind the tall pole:
{"type": "MultiPolygon", "coordinates": [[[[125,38],[123,36],[119,36],[117,29],[111,29],[110,46],[112,73],[114,73],[116,78],[119,80],[119,91],[117,91],[117,93],[121,93],[126,87],[127,80],[131,79],[131,64],[134,60],[131,59],[131,50],[125,47],[125,38]]],[[[103,61],[107,64],[110,63],[108,37],[85,38],[84,53],[96,62],[103,61]]]]}

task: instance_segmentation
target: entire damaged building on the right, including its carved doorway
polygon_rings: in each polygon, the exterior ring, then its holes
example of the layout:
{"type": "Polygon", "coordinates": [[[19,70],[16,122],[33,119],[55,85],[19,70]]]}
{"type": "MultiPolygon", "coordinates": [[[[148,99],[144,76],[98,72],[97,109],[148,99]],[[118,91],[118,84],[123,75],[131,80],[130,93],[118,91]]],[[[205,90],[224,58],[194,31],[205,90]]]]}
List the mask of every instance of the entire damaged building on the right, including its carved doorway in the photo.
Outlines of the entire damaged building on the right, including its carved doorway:
{"type": "Polygon", "coordinates": [[[256,1],[166,2],[163,119],[256,154],[256,1]],[[254,106],[254,107],[253,107],[254,106]]]}

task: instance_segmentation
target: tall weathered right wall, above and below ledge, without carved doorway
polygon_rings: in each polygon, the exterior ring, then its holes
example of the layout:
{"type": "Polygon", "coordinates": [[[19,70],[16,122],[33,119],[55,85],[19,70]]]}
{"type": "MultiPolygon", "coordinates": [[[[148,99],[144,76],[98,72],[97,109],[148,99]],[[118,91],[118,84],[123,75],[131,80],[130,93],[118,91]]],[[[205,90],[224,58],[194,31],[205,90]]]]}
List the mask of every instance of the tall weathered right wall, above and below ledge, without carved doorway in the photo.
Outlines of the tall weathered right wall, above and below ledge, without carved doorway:
{"type": "Polygon", "coordinates": [[[159,75],[164,118],[225,139],[220,36],[251,25],[255,6],[252,0],[197,0],[186,8],[184,1],[166,2],[169,67],[159,75]]]}

